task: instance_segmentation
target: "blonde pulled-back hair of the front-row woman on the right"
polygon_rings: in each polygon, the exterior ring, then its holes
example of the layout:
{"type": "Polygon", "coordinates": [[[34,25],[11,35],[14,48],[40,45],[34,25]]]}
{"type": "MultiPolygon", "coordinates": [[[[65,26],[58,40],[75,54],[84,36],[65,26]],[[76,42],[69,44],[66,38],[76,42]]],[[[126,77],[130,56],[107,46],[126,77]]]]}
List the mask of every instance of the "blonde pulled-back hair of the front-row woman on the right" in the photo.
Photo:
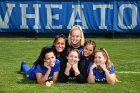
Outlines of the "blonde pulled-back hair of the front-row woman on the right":
{"type": "Polygon", "coordinates": [[[100,48],[100,50],[96,51],[95,53],[97,53],[97,52],[101,52],[101,53],[103,54],[103,56],[104,56],[105,58],[107,58],[105,64],[106,64],[107,69],[109,70],[109,68],[110,68],[111,66],[113,66],[113,63],[112,63],[112,61],[111,61],[111,59],[110,59],[110,57],[109,57],[108,52],[106,51],[105,48],[100,48]]]}

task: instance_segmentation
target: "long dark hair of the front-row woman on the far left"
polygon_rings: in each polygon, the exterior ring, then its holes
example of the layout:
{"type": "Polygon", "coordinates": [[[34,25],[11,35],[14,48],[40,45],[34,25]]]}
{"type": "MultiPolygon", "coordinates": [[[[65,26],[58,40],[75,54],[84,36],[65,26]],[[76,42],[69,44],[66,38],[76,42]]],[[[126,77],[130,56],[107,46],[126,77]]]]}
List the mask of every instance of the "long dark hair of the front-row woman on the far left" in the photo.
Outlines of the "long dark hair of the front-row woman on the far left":
{"type": "Polygon", "coordinates": [[[52,48],[48,48],[48,47],[43,47],[39,57],[37,58],[37,60],[34,62],[35,67],[39,64],[41,68],[43,68],[44,66],[44,59],[45,59],[45,55],[47,53],[53,52],[55,55],[55,52],[52,48]]]}

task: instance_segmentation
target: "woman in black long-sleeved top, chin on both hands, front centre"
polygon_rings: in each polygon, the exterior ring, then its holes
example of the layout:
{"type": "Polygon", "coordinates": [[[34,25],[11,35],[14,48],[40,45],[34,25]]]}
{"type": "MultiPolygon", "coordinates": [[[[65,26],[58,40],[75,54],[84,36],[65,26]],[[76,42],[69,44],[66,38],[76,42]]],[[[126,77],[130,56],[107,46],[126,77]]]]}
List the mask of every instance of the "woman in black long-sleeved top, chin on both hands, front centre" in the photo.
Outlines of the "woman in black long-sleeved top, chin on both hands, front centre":
{"type": "Polygon", "coordinates": [[[64,76],[62,77],[62,82],[66,83],[68,81],[76,81],[78,83],[84,83],[85,76],[81,73],[83,70],[84,64],[82,65],[80,60],[80,52],[78,49],[73,49],[67,54],[67,63],[64,67],[64,76]]]}

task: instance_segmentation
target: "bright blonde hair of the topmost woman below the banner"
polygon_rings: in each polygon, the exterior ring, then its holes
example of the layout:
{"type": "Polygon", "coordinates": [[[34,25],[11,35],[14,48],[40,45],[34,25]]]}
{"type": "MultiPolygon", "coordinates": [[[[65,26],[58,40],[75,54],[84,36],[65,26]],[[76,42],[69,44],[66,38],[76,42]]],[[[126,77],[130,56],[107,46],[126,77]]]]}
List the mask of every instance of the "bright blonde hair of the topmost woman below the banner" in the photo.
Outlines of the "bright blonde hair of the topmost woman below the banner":
{"type": "Polygon", "coordinates": [[[84,38],[83,30],[82,30],[81,26],[79,26],[79,25],[73,26],[72,29],[70,30],[70,33],[69,33],[69,36],[68,36],[68,44],[71,45],[71,40],[70,40],[70,38],[71,38],[71,33],[72,33],[74,30],[79,30],[79,31],[80,31],[80,33],[81,33],[81,46],[83,46],[83,45],[84,45],[84,42],[85,42],[85,38],[84,38]]]}

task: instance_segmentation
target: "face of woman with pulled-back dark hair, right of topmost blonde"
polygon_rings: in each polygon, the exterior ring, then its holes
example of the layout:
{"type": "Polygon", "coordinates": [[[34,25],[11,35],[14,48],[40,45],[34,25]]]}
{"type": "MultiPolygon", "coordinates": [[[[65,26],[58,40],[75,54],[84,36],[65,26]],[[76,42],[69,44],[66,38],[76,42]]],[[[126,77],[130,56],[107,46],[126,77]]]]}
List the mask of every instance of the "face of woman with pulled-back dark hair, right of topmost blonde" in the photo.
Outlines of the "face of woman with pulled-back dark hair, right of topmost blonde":
{"type": "Polygon", "coordinates": [[[94,49],[92,44],[87,44],[86,46],[84,46],[83,53],[85,57],[90,56],[91,54],[93,54],[93,52],[94,49]]]}

